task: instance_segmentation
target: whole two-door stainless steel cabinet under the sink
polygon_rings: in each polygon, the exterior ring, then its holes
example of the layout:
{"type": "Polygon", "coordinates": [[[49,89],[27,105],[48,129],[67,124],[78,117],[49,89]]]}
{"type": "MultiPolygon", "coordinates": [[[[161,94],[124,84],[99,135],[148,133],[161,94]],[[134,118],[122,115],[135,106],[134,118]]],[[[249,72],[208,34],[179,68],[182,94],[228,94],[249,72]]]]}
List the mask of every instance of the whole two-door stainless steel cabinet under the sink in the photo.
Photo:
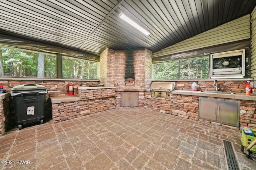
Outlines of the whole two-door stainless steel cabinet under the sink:
{"type": "Polygon", "coordinates": [[[199,98],[199,118],[239,127],[240,101],[199,98]]]}

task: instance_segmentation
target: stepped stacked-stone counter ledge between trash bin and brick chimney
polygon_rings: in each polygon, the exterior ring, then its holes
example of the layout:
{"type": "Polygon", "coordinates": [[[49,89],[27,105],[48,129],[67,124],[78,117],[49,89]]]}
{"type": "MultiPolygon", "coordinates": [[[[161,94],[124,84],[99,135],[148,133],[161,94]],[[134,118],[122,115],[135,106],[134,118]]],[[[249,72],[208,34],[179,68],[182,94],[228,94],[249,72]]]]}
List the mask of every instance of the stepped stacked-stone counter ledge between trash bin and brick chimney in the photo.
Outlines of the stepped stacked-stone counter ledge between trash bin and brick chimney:
{"type": "MultiPolygon", "coordinates": [[[[114,91],[114,94],[116,94],[115,90],[109,89],[109,88],[94,89],[94,90],[83,89],[83,90],[95,91],[96,92],[95,96],[98,94],[99,95],[101,94],[100,92],[97,92],[97,91],[110,91],[110,92],[114,91]]],[[[92,93],[93,92],[90,92],[88,94],[92,94],[92,93]]],[[[95,98],[94,96],[90,96],[90,98],[88,99],[80,98],[79,96],[50,97],[50,100],[52,102],[52,119],[54,123],[58,123],[61,121],[74,119],[76,117],[82,117],[92,113],[116,108],[115,106],[116,102],[115,102],[114,96],[104,97],[100,95],[98,97],[100,98],[95,98]]]]}

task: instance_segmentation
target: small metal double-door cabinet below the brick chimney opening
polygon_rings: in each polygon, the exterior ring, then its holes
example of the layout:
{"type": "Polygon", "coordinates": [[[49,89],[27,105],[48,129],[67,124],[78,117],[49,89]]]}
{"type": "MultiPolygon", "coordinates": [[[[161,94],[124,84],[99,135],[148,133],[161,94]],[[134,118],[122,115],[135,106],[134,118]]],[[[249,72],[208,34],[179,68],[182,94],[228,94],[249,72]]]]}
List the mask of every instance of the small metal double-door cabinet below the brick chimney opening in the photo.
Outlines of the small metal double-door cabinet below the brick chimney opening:
{"type": "Polygon", "coordinates": [[[136,107],[138,106],[138,92],[122,92],[121,93],[121,106],[136,107]]]}

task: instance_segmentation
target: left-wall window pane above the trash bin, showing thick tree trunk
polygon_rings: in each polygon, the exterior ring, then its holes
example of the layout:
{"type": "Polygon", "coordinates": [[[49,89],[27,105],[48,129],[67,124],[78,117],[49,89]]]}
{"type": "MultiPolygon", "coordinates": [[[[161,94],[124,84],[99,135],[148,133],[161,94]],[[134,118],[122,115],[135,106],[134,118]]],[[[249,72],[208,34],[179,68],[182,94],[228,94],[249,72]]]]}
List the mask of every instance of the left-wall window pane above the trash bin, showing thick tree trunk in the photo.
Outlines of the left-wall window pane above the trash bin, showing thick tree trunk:
{"type": "Polygon", "coordinates": [[[0,47],[0,77],[56,78],[56,55],[0,47]]]}

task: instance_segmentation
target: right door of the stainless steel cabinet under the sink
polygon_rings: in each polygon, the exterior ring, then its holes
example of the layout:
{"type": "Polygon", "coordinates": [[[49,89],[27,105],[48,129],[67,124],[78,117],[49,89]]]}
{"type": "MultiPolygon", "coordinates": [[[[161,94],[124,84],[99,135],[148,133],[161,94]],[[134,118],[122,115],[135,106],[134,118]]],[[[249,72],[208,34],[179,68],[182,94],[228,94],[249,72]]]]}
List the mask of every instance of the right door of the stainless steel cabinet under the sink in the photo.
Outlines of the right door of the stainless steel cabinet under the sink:
{"type": "Polygon", "coordinates": [[[218,100],[217,121],[224,124],[238,125],[238,101],[218,100]]]}

